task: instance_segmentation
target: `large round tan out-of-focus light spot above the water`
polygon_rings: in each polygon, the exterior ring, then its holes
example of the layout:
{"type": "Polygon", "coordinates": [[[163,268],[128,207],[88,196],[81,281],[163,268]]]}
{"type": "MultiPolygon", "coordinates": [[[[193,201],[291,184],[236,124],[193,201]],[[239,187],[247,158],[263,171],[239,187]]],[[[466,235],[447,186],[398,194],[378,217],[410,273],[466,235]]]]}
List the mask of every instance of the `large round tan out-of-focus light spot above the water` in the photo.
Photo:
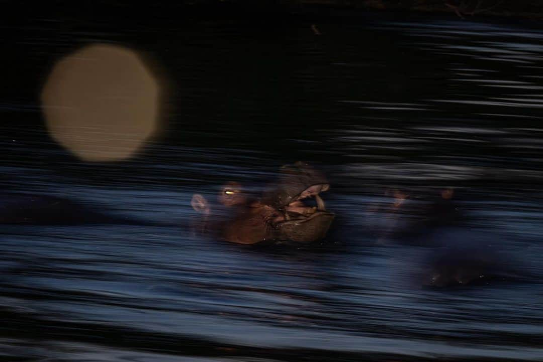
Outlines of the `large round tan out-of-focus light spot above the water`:
{"type": "Polygon", "coordinates": [[[159,83],[134,51],[96,44],[55,64],[41,103],[49,134],[74,155],[121,160],[157,130],[159,83]]]}

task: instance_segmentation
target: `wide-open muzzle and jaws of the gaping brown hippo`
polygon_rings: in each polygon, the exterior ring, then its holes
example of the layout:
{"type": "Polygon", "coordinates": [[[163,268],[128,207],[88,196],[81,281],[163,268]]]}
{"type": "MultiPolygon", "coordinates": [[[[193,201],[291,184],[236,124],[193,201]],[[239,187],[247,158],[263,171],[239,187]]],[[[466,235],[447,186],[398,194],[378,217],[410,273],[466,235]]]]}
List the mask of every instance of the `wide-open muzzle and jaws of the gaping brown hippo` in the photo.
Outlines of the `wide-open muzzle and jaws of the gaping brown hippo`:
{"type": "Polygon", "coordinates": [[[262,203],[278,211],[270,221],[269,239],[311,243],[325,237],[334,219],[320,193],[330,188],[326,177],[302,162],[285,165],[279,180],[264,192],[262,203]],[[312,205],[313,203],[313,205],[312,205]]]}

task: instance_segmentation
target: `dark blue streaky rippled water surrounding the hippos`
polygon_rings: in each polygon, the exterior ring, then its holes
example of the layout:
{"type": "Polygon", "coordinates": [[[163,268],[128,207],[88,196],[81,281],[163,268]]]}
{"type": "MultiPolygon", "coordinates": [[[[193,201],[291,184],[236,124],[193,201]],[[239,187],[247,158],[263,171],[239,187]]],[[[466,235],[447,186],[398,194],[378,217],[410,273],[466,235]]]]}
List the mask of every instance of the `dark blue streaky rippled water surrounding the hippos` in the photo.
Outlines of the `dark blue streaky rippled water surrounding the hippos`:
{"type": "Polygon", "coordinates": [[[46,195],[121,221],[1,226],[0,359],[543,359],[543,30],[159,23],[6,27],[3,212],[46,195]],[[43,126],[50,66],[96,41],[146,52],[172,84],[165,130],[128,161],[78,161],[43,126]],[[193,193],[300,159],[331,180],[324,242],[245,247],[187,226],[193,193]],[[416,200],[456,187],[465,221],[383,240],[371,206],[387,187],[416,200]],[[449,265],[481,281],[433,284],[449,265]]]}

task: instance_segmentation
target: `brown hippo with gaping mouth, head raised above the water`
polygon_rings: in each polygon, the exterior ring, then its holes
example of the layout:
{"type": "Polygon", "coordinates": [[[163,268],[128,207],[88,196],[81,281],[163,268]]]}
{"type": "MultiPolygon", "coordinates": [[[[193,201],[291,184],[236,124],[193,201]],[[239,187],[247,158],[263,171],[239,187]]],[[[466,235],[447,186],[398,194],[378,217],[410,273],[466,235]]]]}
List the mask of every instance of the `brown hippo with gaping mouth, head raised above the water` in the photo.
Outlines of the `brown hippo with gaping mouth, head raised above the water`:
{"type": "MultiPolygon", "coordinates": [[[[233,217],[219,226],[220,236],[238,244],[280,240],[311,243],[320,240],[334,219],[334,214],[326,211],[319,196],[329,188],[323,174],[301,162],[283,166],[277,180],[271,183],[260,200],[250,200],[238,190],[226,187],[224,199],[233,199],[231,206],[236,209],[232,212],[233,217]],[[226,196],[229,191],[230,198],[226,196]],[[310,204],[312,200],[314,206],[310,204]]],[[[204,204],[203,196],[193,196],[194,209],[205,210],[206,207],[200,206],[204,204]]]]}

